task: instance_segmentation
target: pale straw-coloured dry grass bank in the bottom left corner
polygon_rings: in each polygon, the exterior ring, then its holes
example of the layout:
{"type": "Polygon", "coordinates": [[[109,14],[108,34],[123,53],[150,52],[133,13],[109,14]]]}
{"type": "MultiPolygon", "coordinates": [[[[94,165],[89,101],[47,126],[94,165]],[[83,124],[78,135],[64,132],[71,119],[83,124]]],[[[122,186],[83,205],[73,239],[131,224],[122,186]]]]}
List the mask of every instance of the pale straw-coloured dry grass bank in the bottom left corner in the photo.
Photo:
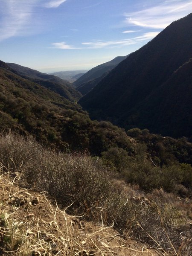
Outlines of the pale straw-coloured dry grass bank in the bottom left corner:
{"type": "Polygon", "coordinates": [[[67,208],[53,205],[47,193],[21,189],[18,176],[0,175],[0,255],[159,255],[147,246],[125,240],[102,222],[82,221],[82,216],[67,215],[67,208]],[[25,204],[13,198],[27,197],[25,204]],[[33,198],[38,204],[31,205],[33,198]]]}

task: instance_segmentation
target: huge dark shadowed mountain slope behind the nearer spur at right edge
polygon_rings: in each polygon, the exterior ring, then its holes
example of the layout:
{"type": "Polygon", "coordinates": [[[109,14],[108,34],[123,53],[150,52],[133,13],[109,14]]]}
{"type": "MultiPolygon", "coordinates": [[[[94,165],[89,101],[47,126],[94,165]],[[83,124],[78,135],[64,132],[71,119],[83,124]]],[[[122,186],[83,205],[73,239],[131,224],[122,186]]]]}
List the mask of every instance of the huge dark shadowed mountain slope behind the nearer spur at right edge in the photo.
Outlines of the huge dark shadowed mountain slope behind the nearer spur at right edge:
{"type": "MultiPolygon", "coordinates": [[[[191,30],[192,14],[174,21],[152,41],[119,63],[79,103],[93,118],[108,119],[124,128],[145,127],[138,122],[140,113],[134,109],[192,57],[191,30]]],[[[158,108],[157,105],[153,107],[158,108]]],[[[151,125],[145,128],[151,130],[151,125]]],[[[190,134],[183,132],[183,136],[190,134]]]]}

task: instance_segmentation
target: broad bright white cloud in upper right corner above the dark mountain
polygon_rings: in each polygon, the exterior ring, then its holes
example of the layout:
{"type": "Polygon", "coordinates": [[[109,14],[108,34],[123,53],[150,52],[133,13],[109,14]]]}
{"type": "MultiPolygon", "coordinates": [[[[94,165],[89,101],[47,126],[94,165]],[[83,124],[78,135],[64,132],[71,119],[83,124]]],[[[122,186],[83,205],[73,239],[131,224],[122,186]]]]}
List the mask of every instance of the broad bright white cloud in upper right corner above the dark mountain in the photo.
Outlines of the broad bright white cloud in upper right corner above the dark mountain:
{"type": "Polygon", "coordinates": [[[174,20],[189,14],[190,10],[192,10],[191,0],[166,0],[158,6],[126,13],[125,23],[152,29],[164,29],[174,20]]]}

